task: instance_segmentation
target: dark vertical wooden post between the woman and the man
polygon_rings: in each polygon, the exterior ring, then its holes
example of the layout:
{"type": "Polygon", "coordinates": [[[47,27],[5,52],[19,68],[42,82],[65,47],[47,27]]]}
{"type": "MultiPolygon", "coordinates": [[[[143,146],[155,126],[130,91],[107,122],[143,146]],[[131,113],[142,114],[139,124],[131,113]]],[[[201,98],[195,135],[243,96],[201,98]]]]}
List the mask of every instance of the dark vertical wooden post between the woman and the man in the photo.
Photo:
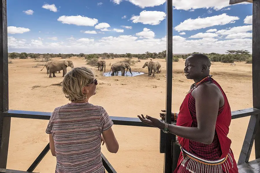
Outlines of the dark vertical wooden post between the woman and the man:
{"type": "MultiPolygon", "coordinates": [[[[172,112],[172,0],[167,0],[167,59],[166,59],[166,122],[171,124],[172,112]]],[[[172,139],[165,136],[164,173],[172,173],[172,139]]]]}

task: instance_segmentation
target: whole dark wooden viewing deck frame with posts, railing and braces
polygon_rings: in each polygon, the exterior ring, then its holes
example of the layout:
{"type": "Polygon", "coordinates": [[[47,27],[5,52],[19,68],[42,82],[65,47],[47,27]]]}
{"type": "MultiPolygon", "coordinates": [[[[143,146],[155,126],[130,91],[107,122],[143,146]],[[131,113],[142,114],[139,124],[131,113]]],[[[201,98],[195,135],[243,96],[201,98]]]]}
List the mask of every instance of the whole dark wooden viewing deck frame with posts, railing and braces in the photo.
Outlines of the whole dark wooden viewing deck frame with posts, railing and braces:
{"type": "MultiPolygon", "coordinates": [[[[230,0],[230,4],[241,2],[253,3],[253,40],[252,40],[252,86],[253,108],[232,112],[232,119],[251,116],[244,143],[239,156],[239,173],[260,172],[260,1],[259,0],[230,0]],[[256,160],[248,162],[255,142],[256,160]]],[[[171,123],[172,106],[172,0],[167,0],[167,74],[166,74],[166,122],[171,123]]],[[[33,172],[42,158],[49,151],[49,144],[39,152],[39,156],[31,164],[27,171],[6,169],[10,122],[11,117],[49,120],[51,112],[33,112],[9,110],[8,108],[8,48],[7,48],[7,9],[6,0],[0,2],[0,173],[28,173],[33,172]]],[[[143,124],[138,118],[111,117],[115,125],[130,125],[150,127],[143,124]]],[[[176,168],[180,148],[176,136],[173,134],[160,133],[160,153],[164,153],[164,173],[172,173],[176,168]]],[[[102,154],[102,161],[108,173],[116,173],[109,161],[102,154]]]]}

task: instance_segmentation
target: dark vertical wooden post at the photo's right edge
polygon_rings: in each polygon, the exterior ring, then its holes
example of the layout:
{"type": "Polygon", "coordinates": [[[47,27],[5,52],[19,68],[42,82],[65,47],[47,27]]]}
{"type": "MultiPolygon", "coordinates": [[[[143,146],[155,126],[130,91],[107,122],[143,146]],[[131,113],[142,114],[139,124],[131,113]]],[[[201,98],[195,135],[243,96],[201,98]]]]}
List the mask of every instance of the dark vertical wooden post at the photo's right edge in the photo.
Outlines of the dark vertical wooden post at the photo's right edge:
{"type": "MultiPolygon", "coordinates": [[[[260,1],[253,0],[253,31],[252,31],[252,80],[253,107],[260,109],[260,1]]],[[[260,115],[258,115],[260,116],[260,115]]],[[[260,158],[260,122],[257,122],[255,135],[255,157],[260,158]]]]}

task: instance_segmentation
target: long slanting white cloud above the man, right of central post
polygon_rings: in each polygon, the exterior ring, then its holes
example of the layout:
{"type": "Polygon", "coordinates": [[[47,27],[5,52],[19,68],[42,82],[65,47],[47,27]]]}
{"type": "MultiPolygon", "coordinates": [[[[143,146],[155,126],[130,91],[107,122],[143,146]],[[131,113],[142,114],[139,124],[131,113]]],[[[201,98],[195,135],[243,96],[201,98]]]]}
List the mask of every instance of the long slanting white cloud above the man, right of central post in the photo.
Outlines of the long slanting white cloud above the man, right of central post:
{"type": "Polygon", "coordinates": [[[176,31],[191,31],[201,28],[212,27],[215,25],[226,25],[228,23],[234,23],[235,20],[239,20],[239,17],[229,16],[226,13],[206,18],[189,18],[181,22],[178,26],[174,27],[174,29],[176,31]]]}

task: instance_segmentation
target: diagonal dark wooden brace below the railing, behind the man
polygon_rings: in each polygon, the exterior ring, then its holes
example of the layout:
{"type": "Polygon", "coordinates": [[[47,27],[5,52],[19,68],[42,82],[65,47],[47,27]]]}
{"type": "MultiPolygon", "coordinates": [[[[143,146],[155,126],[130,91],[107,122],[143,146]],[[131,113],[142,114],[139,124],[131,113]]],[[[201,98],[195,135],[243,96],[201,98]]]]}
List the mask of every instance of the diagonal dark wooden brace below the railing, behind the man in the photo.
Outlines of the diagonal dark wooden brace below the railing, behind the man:
{"type": "Polygon", "coordinates": [[[255,139],[255,134],[257,130],[257,122],[260,120],[260,114],[259,115],[252,115],[250,117],[250,121],[248,123],[248,127],[246,130],[246,136],[244,139],[244,143],[239,155],[239,159],[237,162],[237,165],[242,165],[249,161],[249,157],[252,151],[252,146],[255,139]]]}

